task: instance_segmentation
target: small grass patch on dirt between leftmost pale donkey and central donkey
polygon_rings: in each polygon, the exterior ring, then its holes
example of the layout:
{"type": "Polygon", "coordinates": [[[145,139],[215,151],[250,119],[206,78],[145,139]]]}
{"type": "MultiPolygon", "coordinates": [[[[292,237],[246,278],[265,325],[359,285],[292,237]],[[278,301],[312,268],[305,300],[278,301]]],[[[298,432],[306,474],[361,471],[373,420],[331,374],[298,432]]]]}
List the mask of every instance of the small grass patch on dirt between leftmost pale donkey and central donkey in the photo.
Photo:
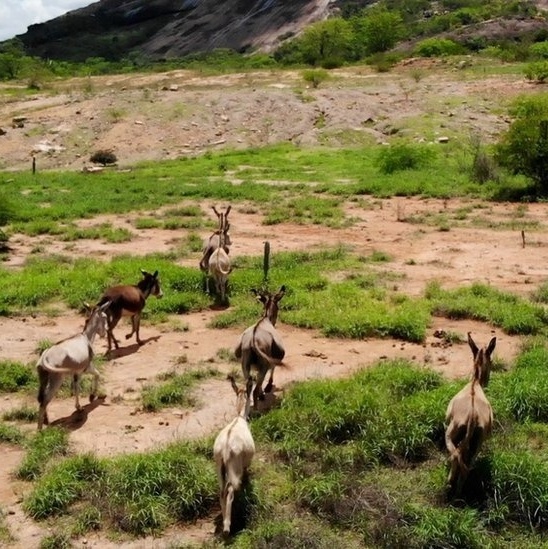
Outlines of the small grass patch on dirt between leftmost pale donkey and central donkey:
{"type": "Polygon", "coordinates": [[[196,400],[192,396],[193,387],[201,380],[218,375],[213,368],[188,371],[183,374],[175,372],[163,376],[163,383],[148,385],[143,388],[143,410],[157,412],[168,406],[192,407],[196,400]]]}

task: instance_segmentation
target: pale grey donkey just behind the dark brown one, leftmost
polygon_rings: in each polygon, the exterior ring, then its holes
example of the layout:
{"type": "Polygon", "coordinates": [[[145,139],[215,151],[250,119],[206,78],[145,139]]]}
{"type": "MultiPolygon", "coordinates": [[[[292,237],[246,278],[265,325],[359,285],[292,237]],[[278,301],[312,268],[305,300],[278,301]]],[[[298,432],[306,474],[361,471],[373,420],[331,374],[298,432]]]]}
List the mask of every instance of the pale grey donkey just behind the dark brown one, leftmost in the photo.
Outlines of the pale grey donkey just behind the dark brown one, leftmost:
{"type": "Polygon", "coordinates": [[[107,331],[107,315],[105,310],[109,305],[110,302],[107,301],[100,307],[91,309],[86,304],[89,316],[84,325],[83,332],[52,345],[40,356],[36,364],[40,382],[38,389],[38,403],[40,404],[38,430],[42,429],[44,424],[49,424],[46,408],[59,390],[65,375],[70,374],[73,376],[72,388],[77,410],[81,409],[78,397],[80,392],[80,376],[82,374],[89,373],[94,376],[89,400],[92,402],[95,399],[99,373],[91,363],[93,358],[92,345],[97,334],[99,334],[99,337],[105,337],[107,331]]]}

